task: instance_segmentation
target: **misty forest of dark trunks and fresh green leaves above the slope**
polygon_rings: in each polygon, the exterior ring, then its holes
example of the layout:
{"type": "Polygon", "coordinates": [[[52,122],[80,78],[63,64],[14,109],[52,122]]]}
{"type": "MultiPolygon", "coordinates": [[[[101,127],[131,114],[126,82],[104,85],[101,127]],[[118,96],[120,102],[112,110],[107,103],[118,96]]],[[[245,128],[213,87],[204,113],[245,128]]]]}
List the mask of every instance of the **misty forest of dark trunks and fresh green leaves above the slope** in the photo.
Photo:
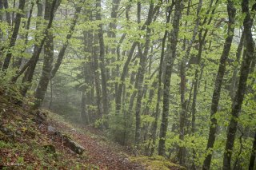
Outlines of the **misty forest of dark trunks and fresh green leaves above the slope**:
{"type": "Polygon", "coordinates": [[[253,170],[255,14],[254,0],[0,0],[0,95],[134,156],[253,170]]]}

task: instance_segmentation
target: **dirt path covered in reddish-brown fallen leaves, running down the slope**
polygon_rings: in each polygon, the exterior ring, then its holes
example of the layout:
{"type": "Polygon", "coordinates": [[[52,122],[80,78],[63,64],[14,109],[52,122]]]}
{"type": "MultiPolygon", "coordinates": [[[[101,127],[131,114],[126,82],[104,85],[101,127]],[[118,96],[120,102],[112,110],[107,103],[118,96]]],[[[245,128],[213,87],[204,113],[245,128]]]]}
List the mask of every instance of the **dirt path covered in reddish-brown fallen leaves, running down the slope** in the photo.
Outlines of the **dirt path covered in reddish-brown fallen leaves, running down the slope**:
{"type": "MultiPolygon", "coordinates": [[[[82,145],[86,149],[85,154],[88,156],[86,162],[90,164],[98,165],[100,169],[108,170],[141,170],[144,169],[140,164],[130,162],[129,156],[125,153],[118,144],[107,142],[104,138],[99,136],[92,136],[87,132],[91,132],[92,129],[82,128],[79,131],[75,128],[63,125],[60,122],[50,121],[61,132],[66,132],[74,140],[82,145]],[[84,132],[82,132],[84,131],[84,132]]],[[[97,130],[93,130],[94,133],[97,130]]]]}

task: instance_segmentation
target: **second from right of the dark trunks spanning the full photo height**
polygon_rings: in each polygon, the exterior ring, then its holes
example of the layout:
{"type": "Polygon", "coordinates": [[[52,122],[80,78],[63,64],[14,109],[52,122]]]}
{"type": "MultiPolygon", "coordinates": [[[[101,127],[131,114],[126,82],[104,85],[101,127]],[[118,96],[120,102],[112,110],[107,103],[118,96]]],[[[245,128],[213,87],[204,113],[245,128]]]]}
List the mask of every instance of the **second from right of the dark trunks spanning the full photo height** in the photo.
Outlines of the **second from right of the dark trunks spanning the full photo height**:
{"type": "MultiPolygon", "coordinates": [[[[225,40],[225,44],[222,51],[222,56],[220,57],[219,66],[218,66],[218,73],[215,79],[214,85],[214,93],[211,102],[210,108],[210,132],[209,138],[207,143],[207,150],[212,149],[214,147],[214,141],[216,138],[217,132],[217,119],[214,117],[215,113],[218,111],[218,102],[221,95],[222,90],[222,81],[226,71],[226,60],[230,54],[230,48],[234,36],[234,18],[236,14],[236,9],[234,8],[234,3],[230,0],[227,2],[227,12],[229,15],[229,23],[228,23],[228,30],[227,30],[227,38],[225,40]]],[[[210,162],[211,162],[212,154],[206,156],[206,160],[204,160],[204,164],[202,165],[202,169],[210,169],[210,162]]]]}

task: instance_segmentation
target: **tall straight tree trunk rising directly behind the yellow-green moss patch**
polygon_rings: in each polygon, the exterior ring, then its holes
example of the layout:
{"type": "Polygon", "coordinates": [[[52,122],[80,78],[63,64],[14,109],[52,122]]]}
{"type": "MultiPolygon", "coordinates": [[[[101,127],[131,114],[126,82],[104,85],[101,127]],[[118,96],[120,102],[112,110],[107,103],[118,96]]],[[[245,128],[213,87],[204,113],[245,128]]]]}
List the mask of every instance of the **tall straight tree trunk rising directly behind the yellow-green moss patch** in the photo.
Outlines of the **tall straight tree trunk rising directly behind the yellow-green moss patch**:
{"type": "Polygon", "coordinates": [[[182,18],[182,0],[177,0],[175,2],[175,12],[173,21],[173,30],[170,33],[170,57],[166,64],[165,81],[163,87],[163,109],[162,109],[162,121],[159,134],[159,144],[158,144],[158,155],[166,155],[166,132],[168,127],[168,116],[169,116],[169,103],[170,103],[170,77],[172,73],[172,68],[174,64],[174,59],[176,57],[176,46],[178,43],[178,31],[179,31],[179,21],[182,18]]]}

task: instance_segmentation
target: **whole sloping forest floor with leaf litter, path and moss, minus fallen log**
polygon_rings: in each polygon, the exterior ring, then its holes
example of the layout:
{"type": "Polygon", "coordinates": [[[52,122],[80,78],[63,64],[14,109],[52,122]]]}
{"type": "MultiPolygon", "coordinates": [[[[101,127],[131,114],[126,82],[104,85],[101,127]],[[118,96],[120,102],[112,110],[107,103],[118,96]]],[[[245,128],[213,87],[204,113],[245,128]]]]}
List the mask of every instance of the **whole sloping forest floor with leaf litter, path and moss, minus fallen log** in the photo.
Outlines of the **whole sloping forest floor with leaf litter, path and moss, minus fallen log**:
{"type": "Polygon", "coordinates": [[[160,156],[134,156],[98,129],[79,127],[48,111],[14,105],[0,90],[0,169],[183,169],[160,156]],[[72,152],[55,133],[84,148],[72,152]]]}

